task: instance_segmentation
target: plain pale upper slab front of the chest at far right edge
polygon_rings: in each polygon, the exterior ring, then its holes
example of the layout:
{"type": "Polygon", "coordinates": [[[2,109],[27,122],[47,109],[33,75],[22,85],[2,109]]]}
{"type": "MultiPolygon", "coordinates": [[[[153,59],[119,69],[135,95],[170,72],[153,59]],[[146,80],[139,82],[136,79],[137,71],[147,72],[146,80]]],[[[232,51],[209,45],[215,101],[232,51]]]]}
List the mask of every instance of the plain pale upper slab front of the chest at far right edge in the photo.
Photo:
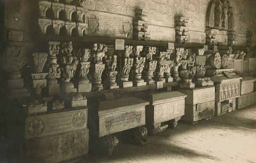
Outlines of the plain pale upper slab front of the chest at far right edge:
{"type": "Polygon", "coordinates": [[[241,82],[241,95],[253,92],[253,85],[255,81],[256,78],[251,76],[243,77],[241,82]]]}

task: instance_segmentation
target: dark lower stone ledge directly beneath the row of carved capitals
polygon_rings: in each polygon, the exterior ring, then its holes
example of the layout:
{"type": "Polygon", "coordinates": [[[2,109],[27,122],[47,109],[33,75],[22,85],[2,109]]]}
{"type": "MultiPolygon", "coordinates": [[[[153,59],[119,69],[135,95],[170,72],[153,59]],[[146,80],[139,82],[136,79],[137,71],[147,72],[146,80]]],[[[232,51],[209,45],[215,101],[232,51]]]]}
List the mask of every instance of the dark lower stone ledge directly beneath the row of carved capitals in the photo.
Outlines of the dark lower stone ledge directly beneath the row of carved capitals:
{"type": "MultiPolygon", "coordinates": [[[[179,82],[164,83],[164,88],[178,86],[178,85],[179,85],[179,82]]],[[[150,90],[150,89],[157,89],[156,84],[144,85],[144,86],[139,86],[139,87],[101,90],[101,91],[95,91],[95,92],[85,92],[85,93],[82,93],[82,94],[84,96],[86,96],[86,98],[92,98],[92,97],[102,96],[104,93],[113,93],[113,94],[129,93],[129,92],[145,91],[145,90],[150,90]]]]}

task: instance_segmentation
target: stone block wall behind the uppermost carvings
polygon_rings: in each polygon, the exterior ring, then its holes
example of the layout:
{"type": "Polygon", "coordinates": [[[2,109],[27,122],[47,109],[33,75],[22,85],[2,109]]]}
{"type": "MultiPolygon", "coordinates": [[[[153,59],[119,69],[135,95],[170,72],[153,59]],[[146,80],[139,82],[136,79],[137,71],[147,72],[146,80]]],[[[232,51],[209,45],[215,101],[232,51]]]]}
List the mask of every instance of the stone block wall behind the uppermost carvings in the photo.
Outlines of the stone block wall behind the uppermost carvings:
{"type": "MultiPolygon", "coordinates": [[[[174,41],[174,16],[189,18],[189,30],[193,43],[203,43],[205,36],[205,17],[210,0],[88,0],[85,7],[120,15],[134,16],[135,8],[148,10],[148,21],[151,25],[151,39],[174,41]],[[157,30],[166,31],[170,36],[154,35],[157,30]],[[173,35],[172,35],[173,34],[173,35]],[[162,37],[162,38],[161,38],[162,37]],[[199,38],[196,38],[199,37],[199,38]]],[[[256,1],[230,0],[234,8],[235,26],[239,34],[237,42],[245,46],[247,30],[256,36],[256,1]],[[241,43],[242,41],[242,43],[241,43]]],[[[24,42],[36,42],[38,36],[38,1],[5,0],[5,38],[9,29],[25,31],[24,42]]],[[[6,40],[6,39],[5,39],[6,40]]]]}

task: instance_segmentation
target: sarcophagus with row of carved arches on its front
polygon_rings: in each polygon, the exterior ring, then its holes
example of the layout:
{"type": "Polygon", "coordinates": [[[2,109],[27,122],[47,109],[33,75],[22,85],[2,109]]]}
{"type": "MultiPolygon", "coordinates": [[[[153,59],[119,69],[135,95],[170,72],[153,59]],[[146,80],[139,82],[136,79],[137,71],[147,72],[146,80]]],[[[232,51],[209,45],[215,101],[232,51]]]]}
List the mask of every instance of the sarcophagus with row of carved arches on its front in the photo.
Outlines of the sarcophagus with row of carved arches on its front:
{"type": "MultiPolygon", "coordinates": [[[[233,69],[234,70],[234,69],[233,69]]],[[[241,92],[241,77],[235,73],[214,75],[211,80],[216,87],[215,91],[215,114],[216,116],[235,110],[236,98],[241,92]]]]}

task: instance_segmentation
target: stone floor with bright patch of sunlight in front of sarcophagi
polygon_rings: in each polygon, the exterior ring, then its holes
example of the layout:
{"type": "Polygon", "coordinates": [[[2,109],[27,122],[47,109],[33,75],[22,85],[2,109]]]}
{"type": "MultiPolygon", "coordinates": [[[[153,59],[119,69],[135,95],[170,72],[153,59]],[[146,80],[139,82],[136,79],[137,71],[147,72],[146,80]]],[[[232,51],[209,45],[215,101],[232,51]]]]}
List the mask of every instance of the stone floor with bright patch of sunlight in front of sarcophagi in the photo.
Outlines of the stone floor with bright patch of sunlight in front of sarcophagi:
{"type": "Polygon", "coordinates": [[[256,105],[195,125],[179,123],[148,138],[143,146],[120,142],[108,158],[89,155],[73,161],[256,162],[256,105]]]}

